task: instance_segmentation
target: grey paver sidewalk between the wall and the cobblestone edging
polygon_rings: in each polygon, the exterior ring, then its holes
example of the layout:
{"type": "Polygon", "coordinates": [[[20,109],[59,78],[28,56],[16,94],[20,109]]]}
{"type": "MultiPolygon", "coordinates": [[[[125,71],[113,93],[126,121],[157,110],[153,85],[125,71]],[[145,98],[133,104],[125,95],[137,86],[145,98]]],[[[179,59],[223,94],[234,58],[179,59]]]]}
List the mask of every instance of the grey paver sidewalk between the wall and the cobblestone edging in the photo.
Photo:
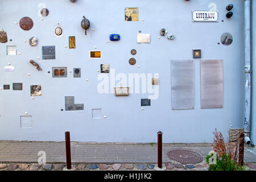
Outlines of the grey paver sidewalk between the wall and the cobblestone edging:
{"type": "MultiPolygon", "coordinates": [[[[163,144],[163,163],[169,163],[167,151],[195,151],[205,159],[212,151],[208,143],[163,144]]],[[[38,162],[38,152],[46,152],[47,163],[65,162],[65,142],[28,142],[0,140],[0,163],[38,162]]],[[[149,143],[71,142],[72,163],[157,163],[157,145],[149,143]]],[[[256,162],[256,148],[245,147],[245,162],[256,162]]]]}

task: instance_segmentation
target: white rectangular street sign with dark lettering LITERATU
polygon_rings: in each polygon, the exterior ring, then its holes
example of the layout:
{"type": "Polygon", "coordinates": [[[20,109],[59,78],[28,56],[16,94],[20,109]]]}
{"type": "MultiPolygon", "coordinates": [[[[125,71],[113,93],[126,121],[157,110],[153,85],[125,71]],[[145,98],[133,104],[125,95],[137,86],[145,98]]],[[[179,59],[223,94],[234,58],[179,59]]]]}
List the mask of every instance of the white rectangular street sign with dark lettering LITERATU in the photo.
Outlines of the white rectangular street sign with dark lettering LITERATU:
{"type": "Polygon", "coordinates": [[[192,22],[218,22],[218,11],[192,11],[192,22]]]}

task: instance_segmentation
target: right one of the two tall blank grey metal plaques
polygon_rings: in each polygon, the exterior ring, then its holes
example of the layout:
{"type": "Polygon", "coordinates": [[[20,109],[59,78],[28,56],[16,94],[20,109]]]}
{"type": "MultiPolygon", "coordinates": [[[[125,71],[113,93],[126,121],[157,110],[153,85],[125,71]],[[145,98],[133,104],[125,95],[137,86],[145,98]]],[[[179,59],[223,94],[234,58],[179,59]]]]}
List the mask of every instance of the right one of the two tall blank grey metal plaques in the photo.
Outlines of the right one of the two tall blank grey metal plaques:
{"type": "Polygon", "coordinates": [[[201,109],[223,107],[222,60],[201,60],[201,109]]]}

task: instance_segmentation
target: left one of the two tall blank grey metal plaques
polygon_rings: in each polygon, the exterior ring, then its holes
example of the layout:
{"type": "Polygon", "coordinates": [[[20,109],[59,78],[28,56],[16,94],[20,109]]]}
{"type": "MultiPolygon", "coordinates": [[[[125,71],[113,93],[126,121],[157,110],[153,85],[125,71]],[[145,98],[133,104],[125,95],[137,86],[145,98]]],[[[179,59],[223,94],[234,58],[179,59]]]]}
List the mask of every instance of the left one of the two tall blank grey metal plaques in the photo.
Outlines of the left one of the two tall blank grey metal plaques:
{"type": "Polygon", "coordinates": [[[172,109],[195,109],[193,60],[171,60],[172,109]]]}

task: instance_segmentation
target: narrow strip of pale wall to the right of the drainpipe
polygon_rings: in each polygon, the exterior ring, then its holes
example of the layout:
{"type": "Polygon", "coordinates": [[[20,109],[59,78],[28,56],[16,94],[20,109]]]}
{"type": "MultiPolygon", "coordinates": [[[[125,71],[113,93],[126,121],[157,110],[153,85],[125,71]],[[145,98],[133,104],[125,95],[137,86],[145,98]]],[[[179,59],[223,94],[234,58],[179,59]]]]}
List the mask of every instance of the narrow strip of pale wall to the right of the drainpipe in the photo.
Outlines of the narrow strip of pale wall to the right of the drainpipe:
{"type": "Polygon", "coordinates": [[[251,135],[252,143],[256,143],[256,2],[251,1],[251,135]]]}

